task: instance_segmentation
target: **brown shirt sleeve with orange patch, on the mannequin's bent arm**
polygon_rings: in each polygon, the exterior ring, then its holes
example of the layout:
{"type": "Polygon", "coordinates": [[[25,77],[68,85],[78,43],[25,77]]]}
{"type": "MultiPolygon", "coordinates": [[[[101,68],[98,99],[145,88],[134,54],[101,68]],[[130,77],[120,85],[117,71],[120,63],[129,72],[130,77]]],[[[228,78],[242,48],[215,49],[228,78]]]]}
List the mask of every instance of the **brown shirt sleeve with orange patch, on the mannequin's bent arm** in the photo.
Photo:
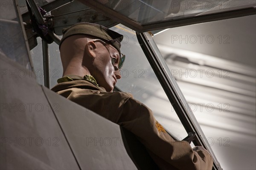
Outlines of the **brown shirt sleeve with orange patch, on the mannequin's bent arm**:
{"type": "Polygon", "coordinates": [[[121,109],[117,123],[137,136],[161,169],[212,169],[207,150],[193,150],[187,141],[175,141],[144,104],[129,98],[121,109]]]}

